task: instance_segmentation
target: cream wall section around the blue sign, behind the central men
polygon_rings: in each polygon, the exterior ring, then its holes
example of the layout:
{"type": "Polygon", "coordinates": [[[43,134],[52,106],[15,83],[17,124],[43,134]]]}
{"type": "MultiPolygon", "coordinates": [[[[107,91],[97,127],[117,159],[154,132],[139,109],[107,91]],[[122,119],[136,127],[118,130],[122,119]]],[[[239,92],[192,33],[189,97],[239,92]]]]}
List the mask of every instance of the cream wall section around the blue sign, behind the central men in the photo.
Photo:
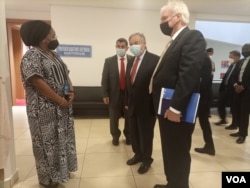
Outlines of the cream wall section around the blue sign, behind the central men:
{"type": "Polygon", "coordinates": [[[74,85],[99,86],[106,57],[115,55],[115,41],[143,32],[150,52],[161,54],[169,40],[160,31],[159,11],[52,6],[51,21],[61,44],[91,45],[92,58],[68,58],[74,85]]]}

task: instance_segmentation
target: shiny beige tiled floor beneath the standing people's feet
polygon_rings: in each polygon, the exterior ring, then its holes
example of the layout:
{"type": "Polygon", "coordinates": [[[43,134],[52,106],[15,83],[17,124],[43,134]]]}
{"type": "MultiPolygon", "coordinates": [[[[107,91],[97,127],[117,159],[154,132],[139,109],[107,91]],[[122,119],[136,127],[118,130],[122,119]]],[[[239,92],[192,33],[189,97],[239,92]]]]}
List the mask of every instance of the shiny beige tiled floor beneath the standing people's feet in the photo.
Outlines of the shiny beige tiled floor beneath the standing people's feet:
{"type": "MultiPolygon", "coordinates": [[[[39,188],[25,107],[13,107],[16,161],[19,181],[14,188],[39,188]]],[[[230,117],[228,118],[230,121],[230,117]]],[[[216,156],[194,152],[203,146],[202,133],[197,123],[193,134],[190,188],[220,188],[222,171],[250,171],[250,138],[236,144],[225,126],[215,126],[218,116],[212,114],[210,122],[216,146],[216,156]]],[[[123,120],[121,119],[121,124],[123,120]]],[[[127,166],[133,155],[131,146],[120,139],[118,147],[112,146],[108,119],[75,119],[79,170],[60,188],[152,188],[156,183],[166,183],[163,173],[158,124],[155,126],[154,162],[144,175],[137,173],[138,165],[127,166]]]]}

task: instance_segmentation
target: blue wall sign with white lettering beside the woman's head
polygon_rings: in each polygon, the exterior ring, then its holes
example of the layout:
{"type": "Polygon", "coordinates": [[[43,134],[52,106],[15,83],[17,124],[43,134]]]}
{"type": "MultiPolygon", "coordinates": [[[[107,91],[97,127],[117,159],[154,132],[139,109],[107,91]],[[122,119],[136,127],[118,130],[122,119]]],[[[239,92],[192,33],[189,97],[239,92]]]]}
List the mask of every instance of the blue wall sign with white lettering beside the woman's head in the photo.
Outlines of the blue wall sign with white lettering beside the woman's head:
{"type": "Polygon", "coordinates": [[[56,52],[61,57],[92,57],[92,46],[60,44],[56,52]]]}

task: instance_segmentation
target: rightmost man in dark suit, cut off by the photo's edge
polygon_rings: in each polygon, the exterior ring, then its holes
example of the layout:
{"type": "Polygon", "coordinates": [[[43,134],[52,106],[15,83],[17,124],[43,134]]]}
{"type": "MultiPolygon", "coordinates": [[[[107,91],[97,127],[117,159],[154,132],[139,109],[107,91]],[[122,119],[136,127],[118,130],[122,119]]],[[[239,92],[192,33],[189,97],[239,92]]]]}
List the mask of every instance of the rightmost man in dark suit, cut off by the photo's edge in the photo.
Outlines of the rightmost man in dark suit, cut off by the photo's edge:
{"type": "Polygon", "coordinates": [[[235,89],[233,101],[233,116],[237,120],[239,132],[230,134],[238,137],[236,143],[242,144],[248,136],[249,112],[250,112],[250,43],[242,47],[244,59],[237,63],[233,75],[235,89]]]}

